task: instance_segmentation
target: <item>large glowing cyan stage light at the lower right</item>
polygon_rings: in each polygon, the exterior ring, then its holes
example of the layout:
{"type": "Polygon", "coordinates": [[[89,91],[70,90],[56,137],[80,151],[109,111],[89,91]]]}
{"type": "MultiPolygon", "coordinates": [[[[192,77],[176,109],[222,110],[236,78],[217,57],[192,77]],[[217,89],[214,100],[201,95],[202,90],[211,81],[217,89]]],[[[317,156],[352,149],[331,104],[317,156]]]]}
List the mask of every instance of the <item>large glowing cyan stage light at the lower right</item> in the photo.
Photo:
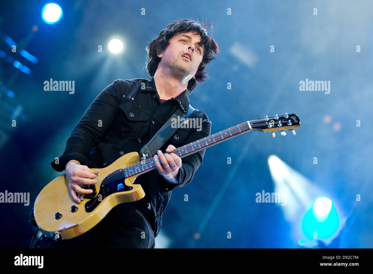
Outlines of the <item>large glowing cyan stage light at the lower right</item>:
{"type": "Polygon", "coordinates": [[[304,236],[310,240],[329,240],[338,231],[339,217],[334,203],[329,198],[317,198],[302,221],[304,236]]]}

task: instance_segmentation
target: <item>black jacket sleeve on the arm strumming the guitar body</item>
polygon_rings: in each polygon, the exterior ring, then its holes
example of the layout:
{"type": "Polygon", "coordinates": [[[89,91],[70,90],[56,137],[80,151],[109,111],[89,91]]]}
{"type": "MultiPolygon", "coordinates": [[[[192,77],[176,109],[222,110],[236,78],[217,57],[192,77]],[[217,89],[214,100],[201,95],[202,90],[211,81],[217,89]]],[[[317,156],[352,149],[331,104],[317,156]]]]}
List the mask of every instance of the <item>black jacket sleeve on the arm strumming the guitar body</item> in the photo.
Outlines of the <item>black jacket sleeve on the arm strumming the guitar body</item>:
{"type": "Polygon", "coordinates": [[[54,170],[65,170],[70,160],[88,164],[91,149],[116,119],[123,89],[122,80],[117,79],[98,94],[72,130],[62,156],[51,162],[54,170]]]}

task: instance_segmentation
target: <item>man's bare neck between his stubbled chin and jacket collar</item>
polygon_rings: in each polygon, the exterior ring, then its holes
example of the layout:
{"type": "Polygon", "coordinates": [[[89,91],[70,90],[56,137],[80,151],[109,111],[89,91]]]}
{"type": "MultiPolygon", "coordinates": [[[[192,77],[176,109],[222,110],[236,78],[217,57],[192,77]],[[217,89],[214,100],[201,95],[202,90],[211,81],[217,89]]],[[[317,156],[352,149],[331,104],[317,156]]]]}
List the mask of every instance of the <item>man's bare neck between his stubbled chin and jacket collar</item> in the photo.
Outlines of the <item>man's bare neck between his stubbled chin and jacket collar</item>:
{"type": "Polygon", "coordinates": [[[188,86],[188,81],[181,84],[180,80],[173,78],[169,74],[162,73],[159,69],[154,74],[154,83],[159,98],[163,100],[178,97],[188,86]]]}

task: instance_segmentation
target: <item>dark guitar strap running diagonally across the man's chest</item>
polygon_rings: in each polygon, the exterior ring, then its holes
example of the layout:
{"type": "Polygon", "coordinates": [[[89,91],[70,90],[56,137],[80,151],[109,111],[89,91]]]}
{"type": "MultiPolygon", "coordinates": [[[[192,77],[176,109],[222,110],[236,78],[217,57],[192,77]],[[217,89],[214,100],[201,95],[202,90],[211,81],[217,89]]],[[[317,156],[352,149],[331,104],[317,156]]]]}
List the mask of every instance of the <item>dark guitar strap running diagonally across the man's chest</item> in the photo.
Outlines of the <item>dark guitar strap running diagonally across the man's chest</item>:
{"type": "MultiPolygon", "coordinates": [[[[151,138],[150,141],[140,149],[141,160],[145,160],[147,156],[153,157],[157,153],[158,149],[160,149],[162,145],[165,144],[167,140],[172,136],[172,134],[176,131],[177,128],[171,127],[172,119],[177,120],[178,116],[181,115],[183,116],[183,118],[189,118],[193,111],[194,108],[190,104],[188,113],[183,113],[181,109],[178,108],[178,110],[176,110],[176,112],[170,117],[170,119],[168,119],[168,121],[164,123],[164,125],[158,130],[158,132],[153,136],[153,138],[151,138]]],[[[178,128],[182,123],[184,123],[184,121],[180,122],[178,128]]]]}

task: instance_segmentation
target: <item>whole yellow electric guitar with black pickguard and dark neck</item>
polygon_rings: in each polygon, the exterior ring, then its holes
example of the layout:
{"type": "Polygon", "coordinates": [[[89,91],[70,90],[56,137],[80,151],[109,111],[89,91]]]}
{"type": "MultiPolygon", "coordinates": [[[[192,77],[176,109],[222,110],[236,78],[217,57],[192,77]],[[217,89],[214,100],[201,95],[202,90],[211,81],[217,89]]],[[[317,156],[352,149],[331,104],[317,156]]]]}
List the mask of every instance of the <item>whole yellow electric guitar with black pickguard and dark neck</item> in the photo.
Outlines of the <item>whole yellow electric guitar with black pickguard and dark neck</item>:
{"type": "MultiPolygon", "coordinates": [[[[246,121],[184,145],[173,153],[184,158],[249,131],[272,132],[275,137],[275,131],[278,130],[281,130],[281,135],[286,135],[283,130],[292,130],[295,135],[296,128],[300,128],[300,120],[295,114],[286,113],[273,118],[266,116],[265,119],[246,121]]],[[[97,183],[81,185],[82,188],[93,189],[93,193],[78,195],[80,204],[73,200],[69,182],[63,174],[41,190],[30,214],[31,222],[51,239],[79,236],[98,224],[116,205],[144,198],[144,190],[134,181],[139,175],[153,169],[156,169],[153,158],[141,161],[138,152],[127,153],[110,166],[98,169],[100,173],[97,183]]]]}

